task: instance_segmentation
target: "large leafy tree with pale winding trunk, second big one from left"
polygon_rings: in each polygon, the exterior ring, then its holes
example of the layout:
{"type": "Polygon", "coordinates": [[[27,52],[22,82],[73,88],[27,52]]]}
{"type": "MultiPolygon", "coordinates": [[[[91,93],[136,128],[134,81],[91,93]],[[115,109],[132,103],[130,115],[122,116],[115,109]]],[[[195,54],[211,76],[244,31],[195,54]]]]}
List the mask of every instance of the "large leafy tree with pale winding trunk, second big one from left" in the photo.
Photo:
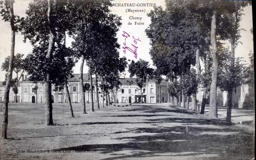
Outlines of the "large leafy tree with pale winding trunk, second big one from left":
{"type": "Polygon", "coordinates": [[[69,19],[70,12],[67,11],[68,5],[71,4],[65,0],[35,0],[29,3],[26,19],[21,24],[24,42],[29,39],[33,45],[33,51],[28,54],[28,59],[37,61],[36,64],[30,64],[32,70],[28,74],[33,75],[37,81],[45,83],[46,125],[53,124],[52,84],[59,86],[59,82],[64,80],[61,77],[63,75],[61,51],[64,48],[62,42],[65,41],[65,31],[69,31],[72,24],[69,19]]]}

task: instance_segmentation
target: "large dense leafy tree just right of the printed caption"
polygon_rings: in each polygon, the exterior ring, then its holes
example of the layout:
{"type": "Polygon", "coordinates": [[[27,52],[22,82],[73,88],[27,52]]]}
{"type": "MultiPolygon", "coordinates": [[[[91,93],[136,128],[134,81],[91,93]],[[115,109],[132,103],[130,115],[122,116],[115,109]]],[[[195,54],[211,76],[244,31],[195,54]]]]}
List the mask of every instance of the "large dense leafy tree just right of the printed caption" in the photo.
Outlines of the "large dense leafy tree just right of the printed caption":
{"type": "MultiPolygon", "coordinates": [[[[151,24],[146,34],[152,45],[151,58],[163,75],[171,75],[173,83],[182,81],[183,73],[196,64],[196,51],[206,45],[208,26],[202,22],[205,16],[196,15],[190,5],[187,1],[170,0],[166,1],[166,10],[155,7],[148,14],[151,24]]],[[[181,106],[181,95],[183,101],[185,95],[181,90],[177,92],[174,101],[181,106]]]]}

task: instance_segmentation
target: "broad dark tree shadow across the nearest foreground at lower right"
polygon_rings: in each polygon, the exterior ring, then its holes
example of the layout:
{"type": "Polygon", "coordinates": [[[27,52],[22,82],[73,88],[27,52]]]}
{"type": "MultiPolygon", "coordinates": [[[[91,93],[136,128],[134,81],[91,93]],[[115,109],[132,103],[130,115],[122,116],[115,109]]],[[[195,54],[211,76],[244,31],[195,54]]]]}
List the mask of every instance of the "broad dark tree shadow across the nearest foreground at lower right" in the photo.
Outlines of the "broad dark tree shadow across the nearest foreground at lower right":
{"type": "Polygon", "coordinates": [[[232,133],[234,130],[228,128],[221,130],[209,128],[206,134],[201,134],[203,131],[200,128],[190,126],[136,128],[136,130],[138,132],[142,131],[155,134],[118,137],[116,139],[124,140],[124,143],[120,144],[80,145],[60,148],[56,151],[97,151],[101,154],[118,156],[105,160],[152,157],[157,156],[156,154],[163,153],[180,153],[180,155],[219,154],[218,158],[209,157],[209,159],[220,159],[220,157],[224,159],[254,158],[253,136],[251,134],[232,133]],[[132,152],[133,154],[126,154],[127,152],[132,152]]]}

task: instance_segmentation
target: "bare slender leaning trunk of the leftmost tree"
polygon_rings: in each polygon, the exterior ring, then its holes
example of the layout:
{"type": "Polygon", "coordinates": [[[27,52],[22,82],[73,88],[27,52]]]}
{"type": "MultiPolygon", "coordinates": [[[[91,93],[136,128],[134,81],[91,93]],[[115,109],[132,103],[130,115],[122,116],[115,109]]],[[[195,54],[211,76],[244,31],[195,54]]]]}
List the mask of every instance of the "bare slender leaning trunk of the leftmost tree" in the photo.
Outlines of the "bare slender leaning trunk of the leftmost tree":
{"type": "Polygon", "coordinates": [[[8,103],[9,103],[9,93],[10,93],[10,88],[11,88],[11,80],[12,80],[12,72],[13,72],[14,47],[15,47],[15,26],[14,26],[13,2],[11,2],[11,4],[10,4],[10,23],[11,23],[11,29],[12,29],[11,54],[10,54],[9,69],[8,69],[8,73],[7,73],[6,87],[5,87],[5,94],[4,94],[3,117],[2,117],[3,123],[2,123],[1,139],[7,139],[8,103]]]}

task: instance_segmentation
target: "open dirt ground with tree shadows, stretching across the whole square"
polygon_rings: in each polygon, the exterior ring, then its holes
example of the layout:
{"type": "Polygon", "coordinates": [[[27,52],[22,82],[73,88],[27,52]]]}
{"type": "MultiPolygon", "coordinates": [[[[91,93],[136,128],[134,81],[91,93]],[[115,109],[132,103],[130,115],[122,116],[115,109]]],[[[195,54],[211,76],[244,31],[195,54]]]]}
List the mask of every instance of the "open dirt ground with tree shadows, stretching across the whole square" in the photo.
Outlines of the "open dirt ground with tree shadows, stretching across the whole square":
{"type": "MultiPolygon", "coordinates": [[[[7,140],[1,160],[205,160],[253,159],[255,111],[233,108],[232,122],[162,104],[119,104],[81,114],[81,104],[53,104],[55,125],[44,125],[44,104],[9,104],[7,140]],[[123,107],[122,107],[123,106],[123,107]]],[[[0,103],[2,124],[2,103],[0,103]]]]}

